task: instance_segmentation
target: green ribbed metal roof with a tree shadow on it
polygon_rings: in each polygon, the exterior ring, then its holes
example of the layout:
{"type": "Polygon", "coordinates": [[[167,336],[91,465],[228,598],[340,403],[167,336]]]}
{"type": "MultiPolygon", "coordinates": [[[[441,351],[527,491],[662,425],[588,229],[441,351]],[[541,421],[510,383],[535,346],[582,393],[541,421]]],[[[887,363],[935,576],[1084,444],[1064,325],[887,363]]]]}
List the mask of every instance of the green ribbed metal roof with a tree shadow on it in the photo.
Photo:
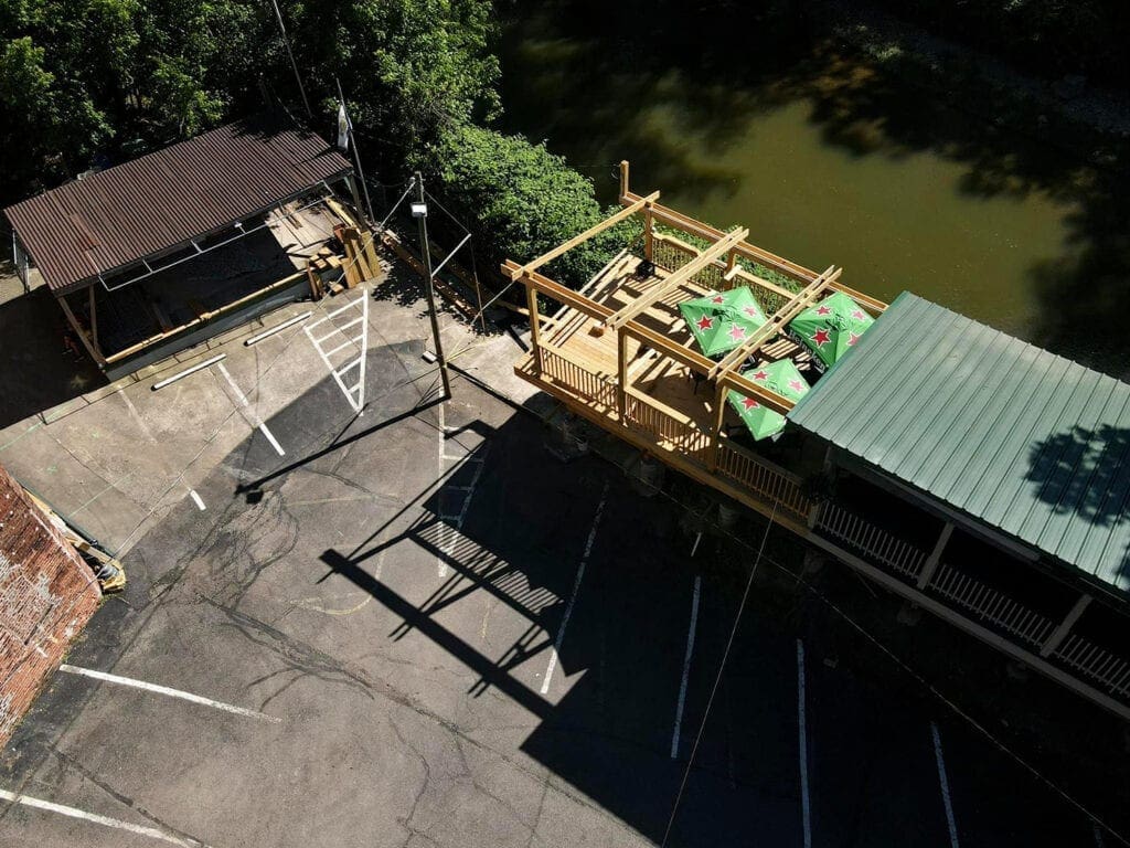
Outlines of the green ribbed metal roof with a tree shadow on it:
{"type": "Polygon", "coordinates": [[[1130,590],[1130,386],[904,292],[789,419],[1130,590]]]}

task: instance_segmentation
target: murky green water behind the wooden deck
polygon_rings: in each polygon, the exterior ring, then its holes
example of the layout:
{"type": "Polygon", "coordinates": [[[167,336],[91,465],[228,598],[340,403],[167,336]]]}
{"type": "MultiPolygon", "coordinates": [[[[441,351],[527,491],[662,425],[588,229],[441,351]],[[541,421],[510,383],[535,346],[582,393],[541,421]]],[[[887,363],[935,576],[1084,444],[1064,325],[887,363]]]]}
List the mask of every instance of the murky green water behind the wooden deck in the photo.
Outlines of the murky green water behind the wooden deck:
{"type": "Polygon", "coordinates": [[[809,268],[842,266],[852,287],[888,301],[910,289],[1066,355],[1106,357],[1072,312],[1090,234],[1080,171],[1061,150],[826,51],[738,73],[756,57],[672,67],[655,54],[685,55],[668,52],[678,38],[645,50],[642,36],[571,26],[550,7],[507,29],[506,121],[566,155],[606,202],[626,158],[638,193],[744,224],[809,268]]]}

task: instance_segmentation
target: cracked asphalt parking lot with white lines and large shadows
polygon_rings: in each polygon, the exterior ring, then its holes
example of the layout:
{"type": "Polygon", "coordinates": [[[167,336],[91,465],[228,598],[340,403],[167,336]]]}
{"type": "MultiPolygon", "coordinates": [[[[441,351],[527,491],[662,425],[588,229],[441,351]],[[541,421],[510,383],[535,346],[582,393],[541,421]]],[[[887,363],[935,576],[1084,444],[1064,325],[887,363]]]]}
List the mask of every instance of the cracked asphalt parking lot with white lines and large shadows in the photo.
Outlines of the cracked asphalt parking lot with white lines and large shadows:
{"type": "Polygon", "coordinates": [[[262,417],[250,361],[125,391],[122,444],[198,409],[231,449],[155,491],[128,590],[5,752],[0,845],[1118,843],[840,663],[802,592],[755,582],[731,644],[748,547],[696,548],[468,380],[440,403],[420,349],[374,335],[359,417],[314,366],[262,417]]]}

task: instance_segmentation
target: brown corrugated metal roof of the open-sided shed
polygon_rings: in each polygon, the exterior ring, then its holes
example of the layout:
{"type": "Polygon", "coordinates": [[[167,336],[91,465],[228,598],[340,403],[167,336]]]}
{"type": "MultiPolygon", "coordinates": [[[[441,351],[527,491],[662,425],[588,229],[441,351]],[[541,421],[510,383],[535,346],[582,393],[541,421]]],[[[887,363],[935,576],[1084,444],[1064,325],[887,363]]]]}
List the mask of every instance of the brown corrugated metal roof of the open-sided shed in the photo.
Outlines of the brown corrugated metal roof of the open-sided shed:
{"type": "Polygon", "coordinates": [[[257,118],[5,209],[56,294],[159,256],[350,172],[313,132],[257,118]]]}

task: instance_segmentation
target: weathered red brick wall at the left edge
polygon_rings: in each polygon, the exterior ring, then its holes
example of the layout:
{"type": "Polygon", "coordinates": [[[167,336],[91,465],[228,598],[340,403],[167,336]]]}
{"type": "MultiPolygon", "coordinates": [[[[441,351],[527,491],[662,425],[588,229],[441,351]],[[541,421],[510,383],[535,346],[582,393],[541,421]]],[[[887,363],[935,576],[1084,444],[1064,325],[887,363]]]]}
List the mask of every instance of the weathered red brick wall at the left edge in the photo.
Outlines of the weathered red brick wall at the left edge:
{"type": "Polygon", "coordinates": [[[101,597],[90,568],[0,468],[0,745],[101,597]]]}

